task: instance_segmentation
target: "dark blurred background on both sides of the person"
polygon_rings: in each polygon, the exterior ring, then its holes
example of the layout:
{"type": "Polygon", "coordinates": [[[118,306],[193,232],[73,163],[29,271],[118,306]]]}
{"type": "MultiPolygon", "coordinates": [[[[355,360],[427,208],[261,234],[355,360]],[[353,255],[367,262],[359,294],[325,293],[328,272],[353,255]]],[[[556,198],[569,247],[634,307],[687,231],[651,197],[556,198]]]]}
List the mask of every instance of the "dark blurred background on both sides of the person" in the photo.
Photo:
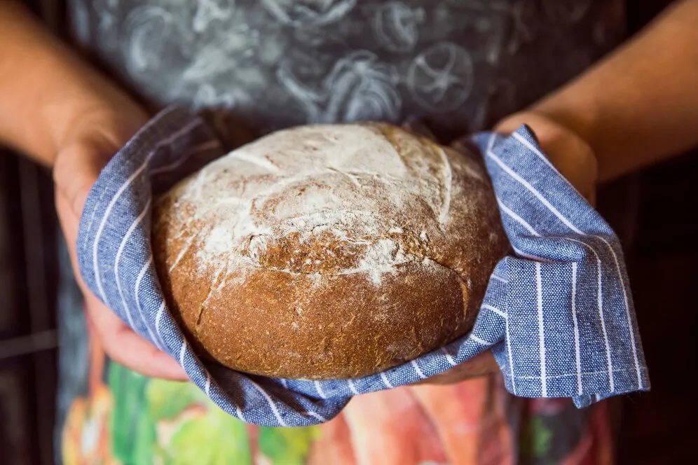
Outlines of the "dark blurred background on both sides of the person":
{"type": "MultiPolygon", "coordinates": [[[[1,0],[0,0],[1,1],[1,0]]],[[[56,34],[60,2],[28,1],[56,34]]],[[[668,1],[629,1],[636,31],[668,1]]],[[[1,102],[0,102],[1,104],[1,102]]],[[[698,130],[698,122],[696,122],[698,130]]],[[[652,393],[617,401],[619,463],[692,463],[698,403],[686,368],[694,366],[698,315],[698,153],[688,153],[601,187],[600,207],[624,239],[652,393]],[[636,221],[620,223],[618,205],[636,221]],[[623,202],[620,202],[623,200],[623,202]]],[[[0,451],[1,463],[54,463],[58,349],[57,221],[50,173],[0,148],[0,451]]]]}

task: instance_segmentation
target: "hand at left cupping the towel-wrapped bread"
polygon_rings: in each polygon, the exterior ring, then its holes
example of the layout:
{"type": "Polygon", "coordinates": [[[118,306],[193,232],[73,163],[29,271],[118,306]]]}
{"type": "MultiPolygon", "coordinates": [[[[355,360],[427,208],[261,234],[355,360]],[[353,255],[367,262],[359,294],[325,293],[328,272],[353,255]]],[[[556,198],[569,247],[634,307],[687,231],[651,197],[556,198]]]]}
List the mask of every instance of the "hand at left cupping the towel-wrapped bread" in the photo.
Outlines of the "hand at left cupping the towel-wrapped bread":
{"type": "Polygon", "coordinates": [[[142,375],[186,380],[175,359],[132,331],[85,286],[77,266],[78,223],[90,188],[114,153],[147,120],[145,111],[128,102],[118,109],[100,107],[80,112],[67,124],[53,167],[56,209],[74,274],[85,296],[88,324],[107,356],[142,375]]]}

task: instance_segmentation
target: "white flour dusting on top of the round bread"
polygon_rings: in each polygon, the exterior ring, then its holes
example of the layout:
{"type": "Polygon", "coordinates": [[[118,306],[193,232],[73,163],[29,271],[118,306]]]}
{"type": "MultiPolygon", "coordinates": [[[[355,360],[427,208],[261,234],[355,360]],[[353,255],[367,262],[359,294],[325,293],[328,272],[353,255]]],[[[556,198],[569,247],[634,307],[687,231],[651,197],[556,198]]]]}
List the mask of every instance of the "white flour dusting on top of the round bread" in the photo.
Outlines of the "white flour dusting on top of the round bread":
{"type": "MultiPolygon", "coordinates": [[[[453,153],[397,128],[316,125],[276,132],[212,162],[170,191],[193,231],[199,272],[385,273],[427,257],[425,230],[451,219],[453,153]],[[425,156],[425,153],[427,154],[425,156]],[[186,216],[189,211],[196,211],[186,216]],[[401,237],[413,232],[409,250],[401,237]],[[335,254],[331,244],[350,245],[335,254]],[[322,254],[317,247],[322,246],[322,254]],[[284,247],[286,263],[265,254],[284,247]],[[314,252],[313,252],[314,251],[314,252]],[[273,262],[273,263],[270,263],[273,262]]],[[[477,173],[467,160],[463,172],[477,173]]],[[[336,247],[334,248],[336,249],[336,247]]]]}

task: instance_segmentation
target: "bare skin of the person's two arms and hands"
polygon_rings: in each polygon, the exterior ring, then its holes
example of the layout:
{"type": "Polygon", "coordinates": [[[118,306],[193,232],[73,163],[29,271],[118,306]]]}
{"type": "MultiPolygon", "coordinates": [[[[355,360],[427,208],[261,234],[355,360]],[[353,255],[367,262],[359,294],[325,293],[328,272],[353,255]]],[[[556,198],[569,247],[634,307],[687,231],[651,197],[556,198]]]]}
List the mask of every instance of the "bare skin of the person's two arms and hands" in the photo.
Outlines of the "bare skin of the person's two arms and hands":
{"type": "MultiPolygon", "coordinates": [[[[495,126],[526,123],[590,202],[609,181],[698,144],[698,0],[678,1],[643,32],[563,88],[495,126]]],[[[177,361],[125,326],[76,268],[85,198],[109,158],[149,118],[125,91],[51,36],[17,1],[0,2],[0,143],[53,169],[56,209],[88,319],[114,361],[186,380],[177,361]]],[[[430,378],[498,370],[491,352],[430,378]]]]}

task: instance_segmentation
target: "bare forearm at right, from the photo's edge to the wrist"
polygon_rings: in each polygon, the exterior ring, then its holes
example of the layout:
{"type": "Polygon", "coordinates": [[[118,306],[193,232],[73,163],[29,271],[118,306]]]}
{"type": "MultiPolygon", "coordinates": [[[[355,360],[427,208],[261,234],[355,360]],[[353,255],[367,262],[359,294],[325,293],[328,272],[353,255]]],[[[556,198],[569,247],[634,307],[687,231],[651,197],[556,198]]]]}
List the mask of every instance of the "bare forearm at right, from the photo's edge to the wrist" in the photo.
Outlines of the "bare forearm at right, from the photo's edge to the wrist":
{"type": "Polygon", "coordinates": [[[698,1],[678,2],[531,110],[589,143],[599,181],[698,144],[698,1]]]}

